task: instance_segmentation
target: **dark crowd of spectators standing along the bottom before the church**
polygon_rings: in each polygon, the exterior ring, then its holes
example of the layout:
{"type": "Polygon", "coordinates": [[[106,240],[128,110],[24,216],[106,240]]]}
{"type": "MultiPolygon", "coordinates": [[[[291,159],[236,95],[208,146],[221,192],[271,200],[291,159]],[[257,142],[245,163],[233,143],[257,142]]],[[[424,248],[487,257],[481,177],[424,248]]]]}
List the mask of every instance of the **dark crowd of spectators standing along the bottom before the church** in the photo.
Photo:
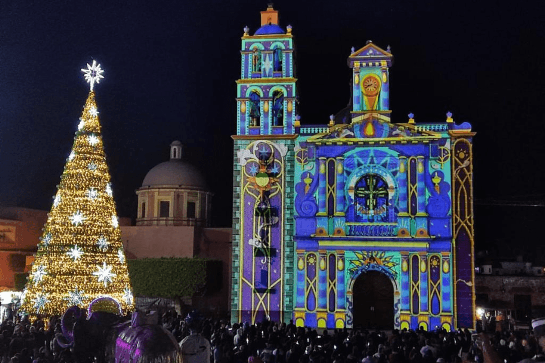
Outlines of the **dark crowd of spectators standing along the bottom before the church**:
{"type": "MultiPolygon", "coordinates": [[[[468,330],[445,331],[311,329],[264,321],[181,316],[168,311],[159,324],[180,343],[184,362],[209,356],[211,363],[517,363],[540,361],[540,343],[531,331],[496,332],[476,339],[468,330]],[[494,353],[487,354],[486,349],[494,353]],[[185,349],[185,352],[184,352],[185,349]],[[193,349],[188,353],[188,349],[193,349]],[[485,354],[483,355],[483,352],[485,354]],[[183,355],[184,356],[184,355],[183,355]]],[[[1,363],[77,363],[57,343],[60,319],[48,324],[14,316],[0,325],[1,363]]],[[[545,361],[545,359],[543,359],[545,361]]]]}

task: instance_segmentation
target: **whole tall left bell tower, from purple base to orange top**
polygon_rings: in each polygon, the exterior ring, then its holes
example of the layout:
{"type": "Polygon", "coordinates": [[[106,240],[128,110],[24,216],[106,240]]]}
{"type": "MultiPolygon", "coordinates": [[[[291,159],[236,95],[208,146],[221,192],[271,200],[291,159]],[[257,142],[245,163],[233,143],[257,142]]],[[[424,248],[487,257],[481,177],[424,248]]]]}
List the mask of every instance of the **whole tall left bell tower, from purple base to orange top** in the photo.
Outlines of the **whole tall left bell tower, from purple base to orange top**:
{"type": "Polygon", "coordinates": [[[233,163],[231,318],[289,322],[294,294],[295,69],[292,27],[269,5],[244,28],[233,163]]]}

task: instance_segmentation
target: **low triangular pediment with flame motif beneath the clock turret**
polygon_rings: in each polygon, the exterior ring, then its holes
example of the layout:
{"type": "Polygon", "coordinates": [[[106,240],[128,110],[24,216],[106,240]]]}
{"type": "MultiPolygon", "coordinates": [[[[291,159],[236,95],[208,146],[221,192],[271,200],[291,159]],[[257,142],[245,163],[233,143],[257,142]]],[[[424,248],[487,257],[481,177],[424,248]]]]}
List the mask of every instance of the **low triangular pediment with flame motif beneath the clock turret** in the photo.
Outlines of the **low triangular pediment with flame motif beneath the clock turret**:
{"type": "Polygon", "coordinates": [[[348,125],[334,125],[328,132],[308,138],[308,142],[361,142],[361,141],[408,141],[410,139],[438,138],[432,131],[417,131],[413,124],[392,124],[372,117],[348,125]]]}

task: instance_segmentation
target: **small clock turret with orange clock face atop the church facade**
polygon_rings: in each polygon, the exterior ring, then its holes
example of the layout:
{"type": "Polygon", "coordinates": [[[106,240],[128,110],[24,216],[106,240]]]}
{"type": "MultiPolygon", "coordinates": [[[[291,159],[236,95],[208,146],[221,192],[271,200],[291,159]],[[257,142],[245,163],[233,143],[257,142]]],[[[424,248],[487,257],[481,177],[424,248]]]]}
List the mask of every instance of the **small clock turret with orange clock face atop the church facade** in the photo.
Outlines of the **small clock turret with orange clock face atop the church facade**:
{"type": "Polygon", "coordinates": [[[371,40],[352,52],[348,66],[352,68],[352,122],[374,117],[390,122],[390,87],[388,70],[393,56],[390,46],[383,50],[371,40]]]}

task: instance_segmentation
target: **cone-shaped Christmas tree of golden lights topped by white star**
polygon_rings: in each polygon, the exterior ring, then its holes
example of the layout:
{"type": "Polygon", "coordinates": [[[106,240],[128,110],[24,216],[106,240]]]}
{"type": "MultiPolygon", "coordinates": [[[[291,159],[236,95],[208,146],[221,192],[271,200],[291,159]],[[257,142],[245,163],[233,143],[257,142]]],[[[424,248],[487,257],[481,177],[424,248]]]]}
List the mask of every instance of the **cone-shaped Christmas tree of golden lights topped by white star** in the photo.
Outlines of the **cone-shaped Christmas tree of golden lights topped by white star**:
{"type": "Polygon", "coordinates": [[[90,92],[23,292],[31,319],[99,297],[116,300],[119,313],[134,310],[93,91],[104,71],[96,61],[82,71],[90,92]]]}

